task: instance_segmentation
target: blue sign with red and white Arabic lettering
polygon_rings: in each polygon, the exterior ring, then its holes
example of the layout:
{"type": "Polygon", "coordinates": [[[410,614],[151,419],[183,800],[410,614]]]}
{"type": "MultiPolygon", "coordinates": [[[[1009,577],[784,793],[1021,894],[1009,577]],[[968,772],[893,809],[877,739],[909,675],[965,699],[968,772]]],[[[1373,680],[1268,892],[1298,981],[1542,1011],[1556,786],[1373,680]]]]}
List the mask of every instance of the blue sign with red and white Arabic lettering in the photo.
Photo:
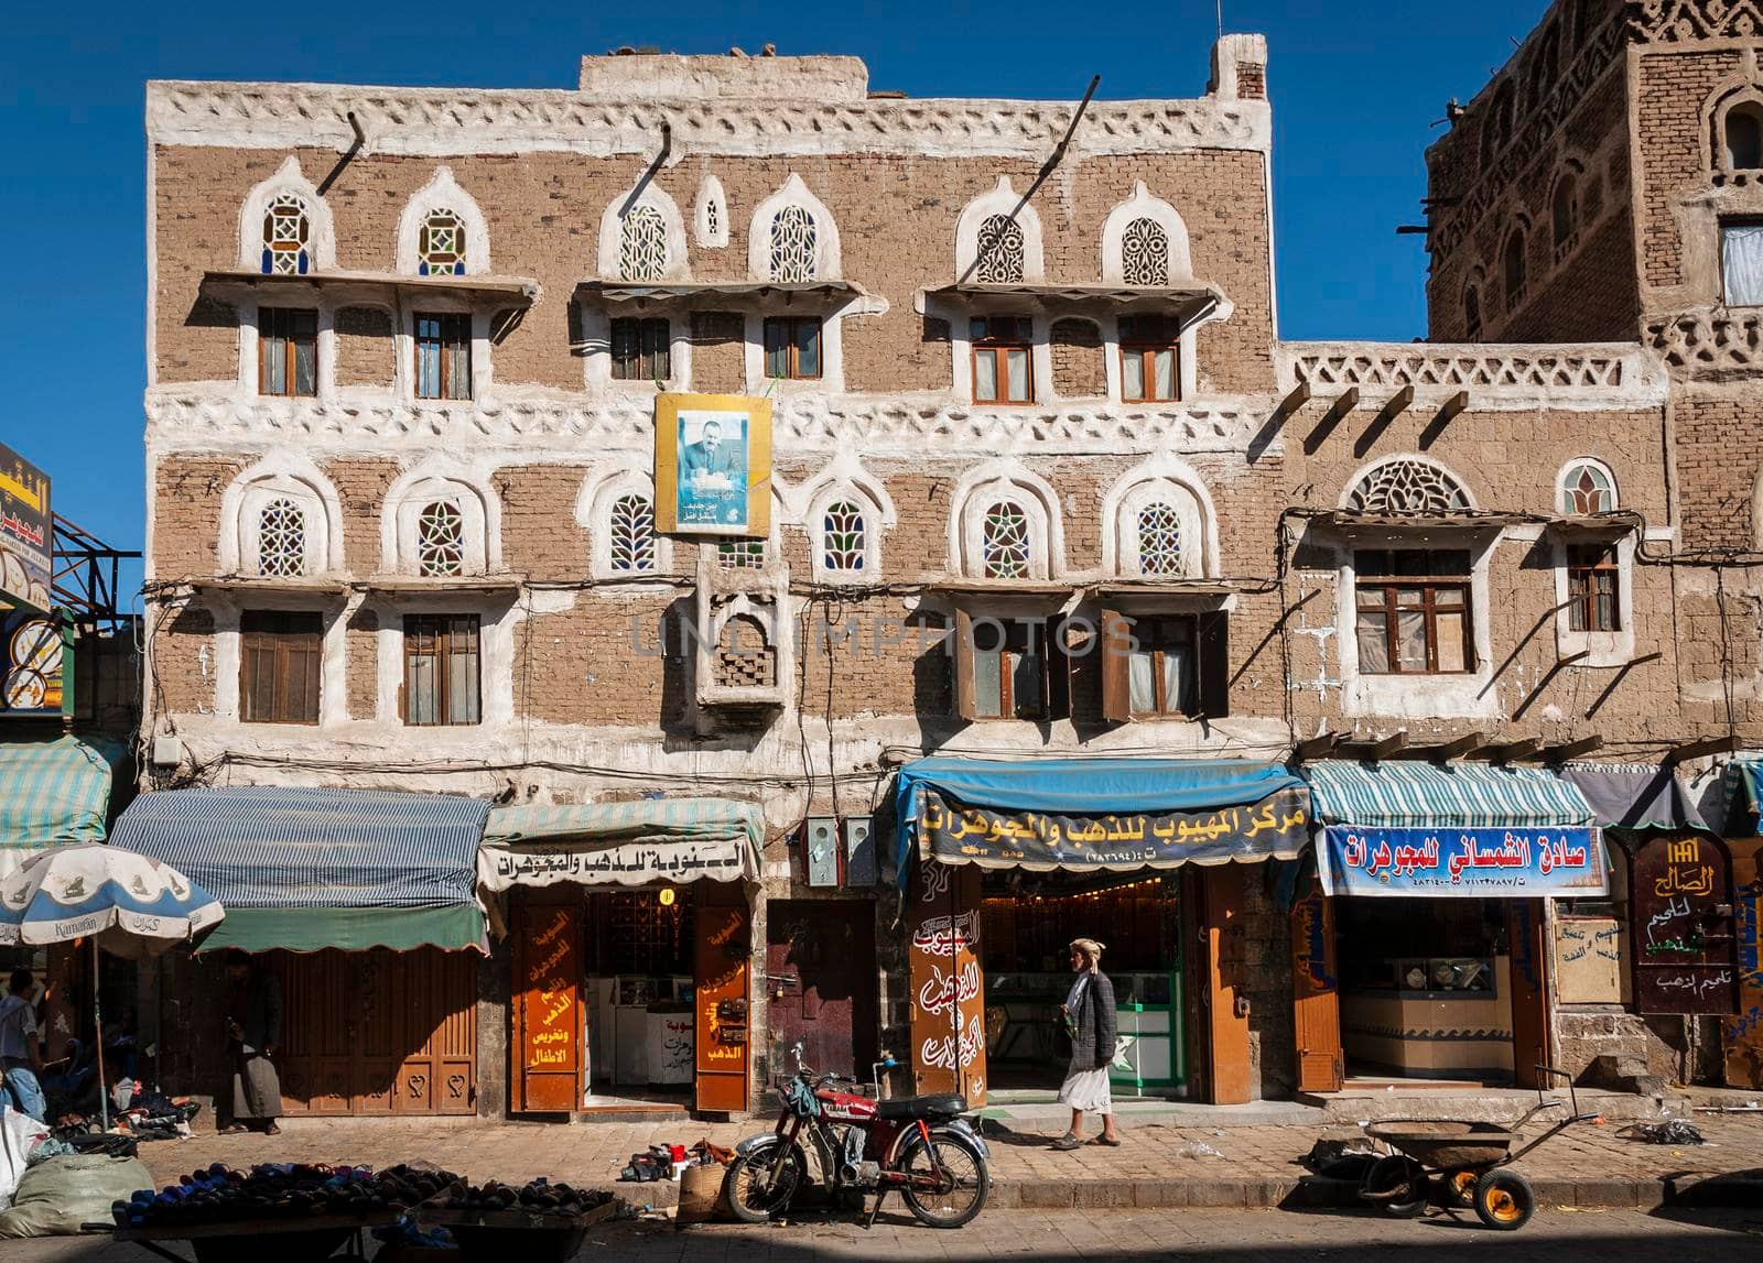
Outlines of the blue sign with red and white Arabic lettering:
{"type": "Polygon", "coordinates": [[[1329,824],[1331,895],[1541,898],[1603,895],[1610,875],[1596,828],[1358,828],[1329,824]]]}

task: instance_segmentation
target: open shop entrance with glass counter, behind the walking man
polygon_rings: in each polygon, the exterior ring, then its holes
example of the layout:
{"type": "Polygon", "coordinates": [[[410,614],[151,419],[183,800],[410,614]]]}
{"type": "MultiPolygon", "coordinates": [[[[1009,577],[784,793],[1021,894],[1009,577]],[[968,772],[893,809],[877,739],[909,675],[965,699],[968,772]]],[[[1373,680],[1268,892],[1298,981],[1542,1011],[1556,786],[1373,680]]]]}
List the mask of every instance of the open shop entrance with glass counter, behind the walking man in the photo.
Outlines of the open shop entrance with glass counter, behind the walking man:
{"type": "Polygon", "coordinates": [[[991,1092],[1058,1090],[1070,1043],[1060,1006],[1067,944],[1098,939],[1114,983],[1123,1048],[1118,1096],[1186,1096],[1179,879],[1176,875],[987,872],[980,953],[991,1092]]]}

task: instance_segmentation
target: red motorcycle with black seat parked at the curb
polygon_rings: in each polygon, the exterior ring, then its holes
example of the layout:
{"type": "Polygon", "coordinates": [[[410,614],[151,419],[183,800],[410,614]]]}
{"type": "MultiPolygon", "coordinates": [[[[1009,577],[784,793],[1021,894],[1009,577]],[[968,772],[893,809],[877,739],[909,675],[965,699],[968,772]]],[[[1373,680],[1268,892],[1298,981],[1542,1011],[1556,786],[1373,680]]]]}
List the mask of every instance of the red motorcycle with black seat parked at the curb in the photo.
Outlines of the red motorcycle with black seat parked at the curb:
{"type": "Polygon", "coordinates": [[[882,1071],[874,1064],[874,1096],[864,1083],[839,1075],[815,1075],[802,1064],[783,1087],[783,1113],[770,1133],[742,1140],[723,1178],[728,1208],[746,1224],[763,1224],[785,1214],[813,1184],[815,1170],[839,1205],[862,1210],[876,1194],[866,1228],[874,1224],[889,1193],[931,1228],[961,1228],[991,1194],[991,1149],[963,1119],[968,1103],[957,1092],[880,1099],[882,1071]]]}

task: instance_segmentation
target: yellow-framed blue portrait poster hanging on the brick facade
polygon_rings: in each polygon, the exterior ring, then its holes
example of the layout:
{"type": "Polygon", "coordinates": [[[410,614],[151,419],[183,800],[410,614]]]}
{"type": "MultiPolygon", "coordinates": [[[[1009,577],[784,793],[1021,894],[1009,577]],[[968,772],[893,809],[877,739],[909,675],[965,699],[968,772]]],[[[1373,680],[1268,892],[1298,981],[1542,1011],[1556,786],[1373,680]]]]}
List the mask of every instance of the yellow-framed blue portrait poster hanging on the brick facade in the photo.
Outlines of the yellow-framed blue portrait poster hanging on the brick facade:
{"type": "Polygon", "coordinates": [[[770,400],[656,395],[656,530],[770,534],[770,400]]]}

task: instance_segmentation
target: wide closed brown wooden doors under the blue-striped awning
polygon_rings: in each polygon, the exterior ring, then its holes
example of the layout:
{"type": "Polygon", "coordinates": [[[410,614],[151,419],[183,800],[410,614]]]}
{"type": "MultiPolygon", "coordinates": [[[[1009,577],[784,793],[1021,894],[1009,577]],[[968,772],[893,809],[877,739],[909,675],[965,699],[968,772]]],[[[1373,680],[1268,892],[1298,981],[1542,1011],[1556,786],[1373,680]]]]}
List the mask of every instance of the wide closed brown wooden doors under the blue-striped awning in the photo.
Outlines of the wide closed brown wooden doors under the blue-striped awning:
{"type": "Polygon", "coordinates": [[[273,953],[289,1115],[478,1110],[478,955],[273,953]]]}

